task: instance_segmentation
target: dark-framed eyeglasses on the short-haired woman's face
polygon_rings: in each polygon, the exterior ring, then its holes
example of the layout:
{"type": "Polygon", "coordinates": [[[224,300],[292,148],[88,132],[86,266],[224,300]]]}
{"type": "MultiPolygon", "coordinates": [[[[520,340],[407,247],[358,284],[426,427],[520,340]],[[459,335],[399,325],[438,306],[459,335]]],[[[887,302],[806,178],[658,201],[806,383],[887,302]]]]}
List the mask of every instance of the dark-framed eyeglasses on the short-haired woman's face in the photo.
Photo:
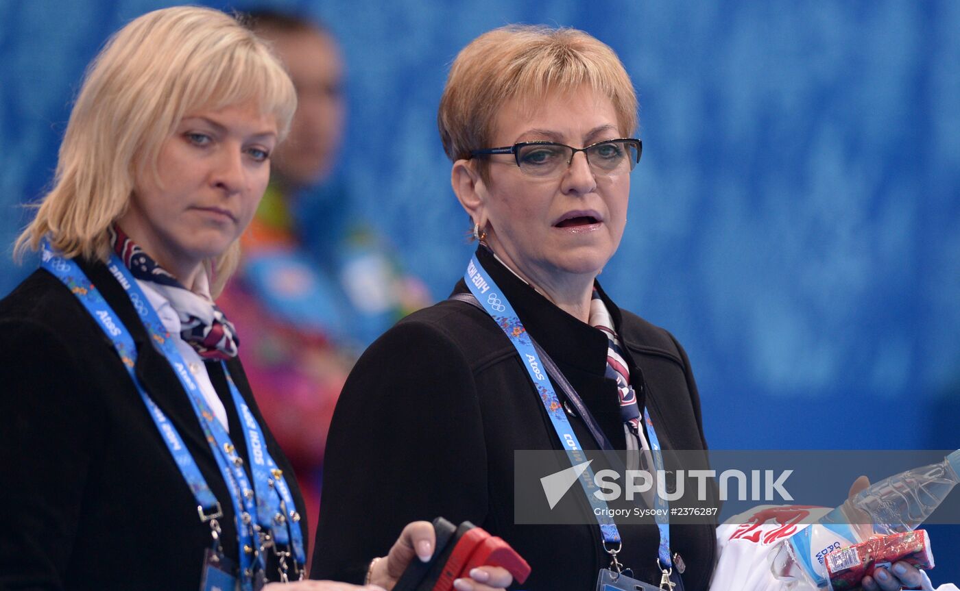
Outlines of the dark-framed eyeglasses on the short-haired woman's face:
{"type": "Polygon", "coordinates": [[[503,148],[473,150],[470,156],[514,154],[520,172],[530,177],[549,178],[562,176],[578,152],[587,157],[594,175],[620,175],[634,170],[643,152],[643,142],[622,137],[590,144],[586,148],[573,148],[557,142],[520,142],[503,148]]]}

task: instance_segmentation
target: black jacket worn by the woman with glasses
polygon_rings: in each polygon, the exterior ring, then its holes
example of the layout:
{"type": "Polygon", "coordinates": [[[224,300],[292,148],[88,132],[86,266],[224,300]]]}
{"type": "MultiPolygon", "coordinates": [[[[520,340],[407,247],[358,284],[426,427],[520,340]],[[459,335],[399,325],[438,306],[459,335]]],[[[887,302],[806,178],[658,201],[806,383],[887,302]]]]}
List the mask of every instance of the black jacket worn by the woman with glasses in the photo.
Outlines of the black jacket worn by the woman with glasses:
{"type": "MultiPolygon", "coordinates": [[[[615,382],[604,376],[604,334],[537,294],[486,249],[477,256],[613,447],[624,449],[615,382]]],[[[454,290],[467,291],[463,281],[454,290]]],[[[649,408],[662,447],[705,450],[700,399],[684,349],[601,295],[628,349],[632,376],[642,369],[647,390],[638,392],[639,403],[649,408]]],[[[585,423],[570,420],[581,444],[596,449],[585,423]]],[[[598,569],[610,562],[595,523],[515,523],[514,451],[538,449],[562,448],[516,349],[484,311],[446,300],[401,320],[360,358],[337,404],[326,443],[313,575],[359,581],[370,557],[384,555],[404,524],[443,515],[509,542],[533,567],[524,589],[592,589],[598,569]]],[[[621,561],[639,579],[659,583],[656,525],[620,532],[621,561]]],[[[671,527],[688,591],[708,587],[714,535],[711,525],[671,527]]]]}

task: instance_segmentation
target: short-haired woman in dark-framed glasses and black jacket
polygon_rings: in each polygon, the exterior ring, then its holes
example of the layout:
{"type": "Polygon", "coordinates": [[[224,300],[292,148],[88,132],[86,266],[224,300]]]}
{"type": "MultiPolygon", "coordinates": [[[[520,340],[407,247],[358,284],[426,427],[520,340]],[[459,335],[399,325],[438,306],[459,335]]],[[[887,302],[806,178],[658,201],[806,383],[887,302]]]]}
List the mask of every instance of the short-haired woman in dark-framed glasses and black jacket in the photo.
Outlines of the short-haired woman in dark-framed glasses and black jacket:
{"type": "Polygon", "coordinates": [[[585,508],[579,525],[515,513],[515,451],[635,450],[628,460],[653,469],[660,447],[707,446],[684,349],[597,281],[627,220],[636,110],[620,60],[580,31],[505,27],[453,62],[438,121],[479,245],[453,295],[397,323],[348,378],[316,575],[359,579],[389,532],[443,515],[506,539],[533,569],[527,589],[707,588],[710,524],[615,527],[576,484],[558,510],[585,508]],[[377,527],[347,540],[361,518],[377,527]]]}

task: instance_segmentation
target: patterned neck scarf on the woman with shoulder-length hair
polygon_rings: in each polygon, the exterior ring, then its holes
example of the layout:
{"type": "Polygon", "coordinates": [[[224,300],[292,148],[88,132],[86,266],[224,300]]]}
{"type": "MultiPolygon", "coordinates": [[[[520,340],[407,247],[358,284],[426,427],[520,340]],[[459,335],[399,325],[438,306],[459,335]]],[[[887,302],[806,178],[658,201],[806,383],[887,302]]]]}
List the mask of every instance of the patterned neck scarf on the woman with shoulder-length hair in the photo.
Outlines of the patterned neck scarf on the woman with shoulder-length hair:
{"type": "Polygon", "coordinates": [[[195,348],[204,359],[236,357],[237,339],[233,324],[213,303],[206,285],[206,274],[199,281],[201,294],[183,287],[172,274],[160,267],[120,226],[110,227],[110,245],[130,269],[133,277],[150,281],[154,289],[170,301],[180,317],[180,338],[195,348]]]}

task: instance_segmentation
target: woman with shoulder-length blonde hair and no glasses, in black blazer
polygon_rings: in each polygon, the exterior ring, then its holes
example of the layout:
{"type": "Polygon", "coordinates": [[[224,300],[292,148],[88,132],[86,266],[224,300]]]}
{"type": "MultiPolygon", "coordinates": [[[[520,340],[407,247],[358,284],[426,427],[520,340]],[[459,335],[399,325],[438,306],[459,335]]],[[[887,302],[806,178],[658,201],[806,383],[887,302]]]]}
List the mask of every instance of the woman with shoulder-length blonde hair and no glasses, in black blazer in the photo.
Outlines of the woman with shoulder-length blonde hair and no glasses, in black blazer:
{"type": "MultiPolygon", "coordinates": [[[[222,12],[150,12],[91,64],[16,245],[41,269],[0,302],[0,587],[305,576],[300,492],[214,303],[295,108],[269,48],[222,12]]],[[[367,582],[392,587],[433,539],[409,524],[367,582]]]]}

